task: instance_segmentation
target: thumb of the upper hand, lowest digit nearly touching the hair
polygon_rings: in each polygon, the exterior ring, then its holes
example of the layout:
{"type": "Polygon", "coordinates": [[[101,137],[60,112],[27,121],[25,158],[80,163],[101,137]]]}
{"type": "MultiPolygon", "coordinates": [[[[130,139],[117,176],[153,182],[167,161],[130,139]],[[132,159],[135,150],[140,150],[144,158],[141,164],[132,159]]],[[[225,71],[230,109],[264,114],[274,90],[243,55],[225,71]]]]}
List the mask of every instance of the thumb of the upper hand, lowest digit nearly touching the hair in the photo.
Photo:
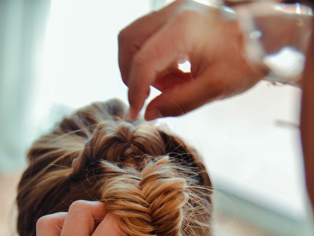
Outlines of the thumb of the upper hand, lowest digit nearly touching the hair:
{"type": "Polygon", "coordinates": [[[163,91],[147,106],[145,119],[182,116],[219,98],[224,88],[221,81],[212,81],[208,75],[202,75],[163,91]]]}

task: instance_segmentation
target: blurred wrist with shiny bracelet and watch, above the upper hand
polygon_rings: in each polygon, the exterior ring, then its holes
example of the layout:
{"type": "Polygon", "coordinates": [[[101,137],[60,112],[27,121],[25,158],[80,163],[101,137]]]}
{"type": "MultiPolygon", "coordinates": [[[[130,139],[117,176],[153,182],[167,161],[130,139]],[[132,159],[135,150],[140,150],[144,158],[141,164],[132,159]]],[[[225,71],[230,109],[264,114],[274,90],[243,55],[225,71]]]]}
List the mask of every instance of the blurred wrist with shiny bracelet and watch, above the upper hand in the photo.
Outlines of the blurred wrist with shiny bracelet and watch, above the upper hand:
{"type": "Polygon", "coordinates": [[[281,1],[225,1],[233,6],[247,59],[269,71],[267,80],[298,85],[312,30],[312,8],[281,1]]]}

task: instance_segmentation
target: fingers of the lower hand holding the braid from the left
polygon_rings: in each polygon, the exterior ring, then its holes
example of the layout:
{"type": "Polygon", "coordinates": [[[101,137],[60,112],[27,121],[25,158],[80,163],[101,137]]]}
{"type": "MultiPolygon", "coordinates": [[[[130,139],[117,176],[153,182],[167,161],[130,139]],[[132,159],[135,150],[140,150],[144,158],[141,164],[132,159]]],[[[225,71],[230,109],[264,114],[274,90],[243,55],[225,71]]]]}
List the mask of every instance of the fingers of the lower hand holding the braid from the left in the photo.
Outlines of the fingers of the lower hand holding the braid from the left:
{"type": "Polygon", "coordinates": [[[117,223],[104,203],[79,200],[68,212],[39,218],[36,236],[123,236],[117,223]]]}

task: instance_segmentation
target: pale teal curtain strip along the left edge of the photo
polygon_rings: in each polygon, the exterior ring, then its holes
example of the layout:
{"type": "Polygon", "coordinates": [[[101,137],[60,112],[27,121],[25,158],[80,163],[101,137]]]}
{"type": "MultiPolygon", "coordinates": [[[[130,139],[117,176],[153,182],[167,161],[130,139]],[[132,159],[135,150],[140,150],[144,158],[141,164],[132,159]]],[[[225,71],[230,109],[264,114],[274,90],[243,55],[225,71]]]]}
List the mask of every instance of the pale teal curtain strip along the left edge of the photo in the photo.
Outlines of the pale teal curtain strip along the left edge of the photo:
{"type": "Polygon", "coordinates": [[[25,160],[49,9],[50,0],[0,1],[0,173],[25,160]]]}

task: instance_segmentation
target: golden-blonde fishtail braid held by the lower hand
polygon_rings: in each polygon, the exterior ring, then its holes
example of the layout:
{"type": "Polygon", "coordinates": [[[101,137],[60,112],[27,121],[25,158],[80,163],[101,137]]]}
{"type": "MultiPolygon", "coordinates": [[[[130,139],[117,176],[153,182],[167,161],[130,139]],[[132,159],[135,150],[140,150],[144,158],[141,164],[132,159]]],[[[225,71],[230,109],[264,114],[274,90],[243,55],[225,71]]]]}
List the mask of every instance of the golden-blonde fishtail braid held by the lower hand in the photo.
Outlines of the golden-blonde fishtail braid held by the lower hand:
{"type": "Polygon", "coordinates": [[[119,216],[123,231],[130,236],[183,235],[192,210],[189,186],[169,157],[149,160],[140,172],[103,165],[103,201],[119,216]]]}

